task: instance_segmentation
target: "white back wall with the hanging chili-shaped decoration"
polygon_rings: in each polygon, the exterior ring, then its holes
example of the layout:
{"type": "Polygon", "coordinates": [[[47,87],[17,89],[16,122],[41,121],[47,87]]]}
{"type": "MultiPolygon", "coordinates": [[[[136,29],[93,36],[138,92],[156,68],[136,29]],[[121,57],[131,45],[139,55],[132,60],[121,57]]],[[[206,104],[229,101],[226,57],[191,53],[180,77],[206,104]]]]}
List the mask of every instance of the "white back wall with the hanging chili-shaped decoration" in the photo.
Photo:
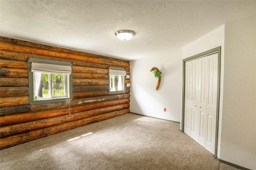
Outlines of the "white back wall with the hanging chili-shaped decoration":
{"type": "Polygon", "coordinates": [[[131,61],[130,111],[180,122],[181,65],[180,50],[164,57],[156,56],[153,59],[131,61]],[[150,72],[152,67],[157,67],[162,72],[158,90],[156,90],[158,78],[150,72]]]}

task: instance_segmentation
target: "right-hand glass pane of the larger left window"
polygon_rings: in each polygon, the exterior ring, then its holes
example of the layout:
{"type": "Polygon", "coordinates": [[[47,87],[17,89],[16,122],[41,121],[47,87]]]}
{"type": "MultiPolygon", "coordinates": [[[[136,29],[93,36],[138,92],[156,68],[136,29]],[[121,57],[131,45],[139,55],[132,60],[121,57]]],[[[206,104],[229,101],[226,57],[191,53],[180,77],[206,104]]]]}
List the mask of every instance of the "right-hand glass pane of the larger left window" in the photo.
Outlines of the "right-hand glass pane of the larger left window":
{"type": "Polygon", "coordinates": [[[52,96],[66,96],[65,74],[52,74],[52,96]]]}

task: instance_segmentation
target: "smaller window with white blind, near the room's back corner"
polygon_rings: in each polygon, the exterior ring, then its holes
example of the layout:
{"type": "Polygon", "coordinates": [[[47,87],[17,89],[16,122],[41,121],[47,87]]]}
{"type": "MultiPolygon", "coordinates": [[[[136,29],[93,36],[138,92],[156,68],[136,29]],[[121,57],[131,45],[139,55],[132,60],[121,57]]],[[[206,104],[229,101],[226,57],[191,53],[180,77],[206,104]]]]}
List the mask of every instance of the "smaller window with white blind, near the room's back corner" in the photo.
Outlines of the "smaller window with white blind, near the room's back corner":
{"type": "Polygon", "coordinates": [[[126,71],[124,68],[109,67],[109,93],[123,93],[124,88],[124,76],[126,71]]]}

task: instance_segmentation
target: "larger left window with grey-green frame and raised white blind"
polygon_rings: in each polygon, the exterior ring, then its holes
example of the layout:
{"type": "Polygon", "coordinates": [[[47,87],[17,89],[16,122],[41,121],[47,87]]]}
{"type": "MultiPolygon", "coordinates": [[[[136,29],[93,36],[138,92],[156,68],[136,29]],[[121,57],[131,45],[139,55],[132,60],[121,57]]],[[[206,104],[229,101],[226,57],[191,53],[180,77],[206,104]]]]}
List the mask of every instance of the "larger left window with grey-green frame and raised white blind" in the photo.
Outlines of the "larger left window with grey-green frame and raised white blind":
{"type": "Polygon", "coordinates": [[[28,59],[30,104],[72,100],[72,63],[28,59]]]}

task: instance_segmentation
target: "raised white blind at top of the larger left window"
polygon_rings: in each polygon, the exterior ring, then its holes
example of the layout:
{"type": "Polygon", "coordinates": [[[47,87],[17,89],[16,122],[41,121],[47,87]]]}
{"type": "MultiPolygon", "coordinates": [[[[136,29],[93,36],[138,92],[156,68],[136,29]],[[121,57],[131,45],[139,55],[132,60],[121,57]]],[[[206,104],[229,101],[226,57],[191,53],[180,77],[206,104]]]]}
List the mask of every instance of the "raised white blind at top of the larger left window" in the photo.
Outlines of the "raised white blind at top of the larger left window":
{"type": "Polygon", "coordinates": [[[45,64],[45,63],[31,63],[31,72],[49,72],[55,74],[68,74],[72,72],[71,66],[45,64]]]}

